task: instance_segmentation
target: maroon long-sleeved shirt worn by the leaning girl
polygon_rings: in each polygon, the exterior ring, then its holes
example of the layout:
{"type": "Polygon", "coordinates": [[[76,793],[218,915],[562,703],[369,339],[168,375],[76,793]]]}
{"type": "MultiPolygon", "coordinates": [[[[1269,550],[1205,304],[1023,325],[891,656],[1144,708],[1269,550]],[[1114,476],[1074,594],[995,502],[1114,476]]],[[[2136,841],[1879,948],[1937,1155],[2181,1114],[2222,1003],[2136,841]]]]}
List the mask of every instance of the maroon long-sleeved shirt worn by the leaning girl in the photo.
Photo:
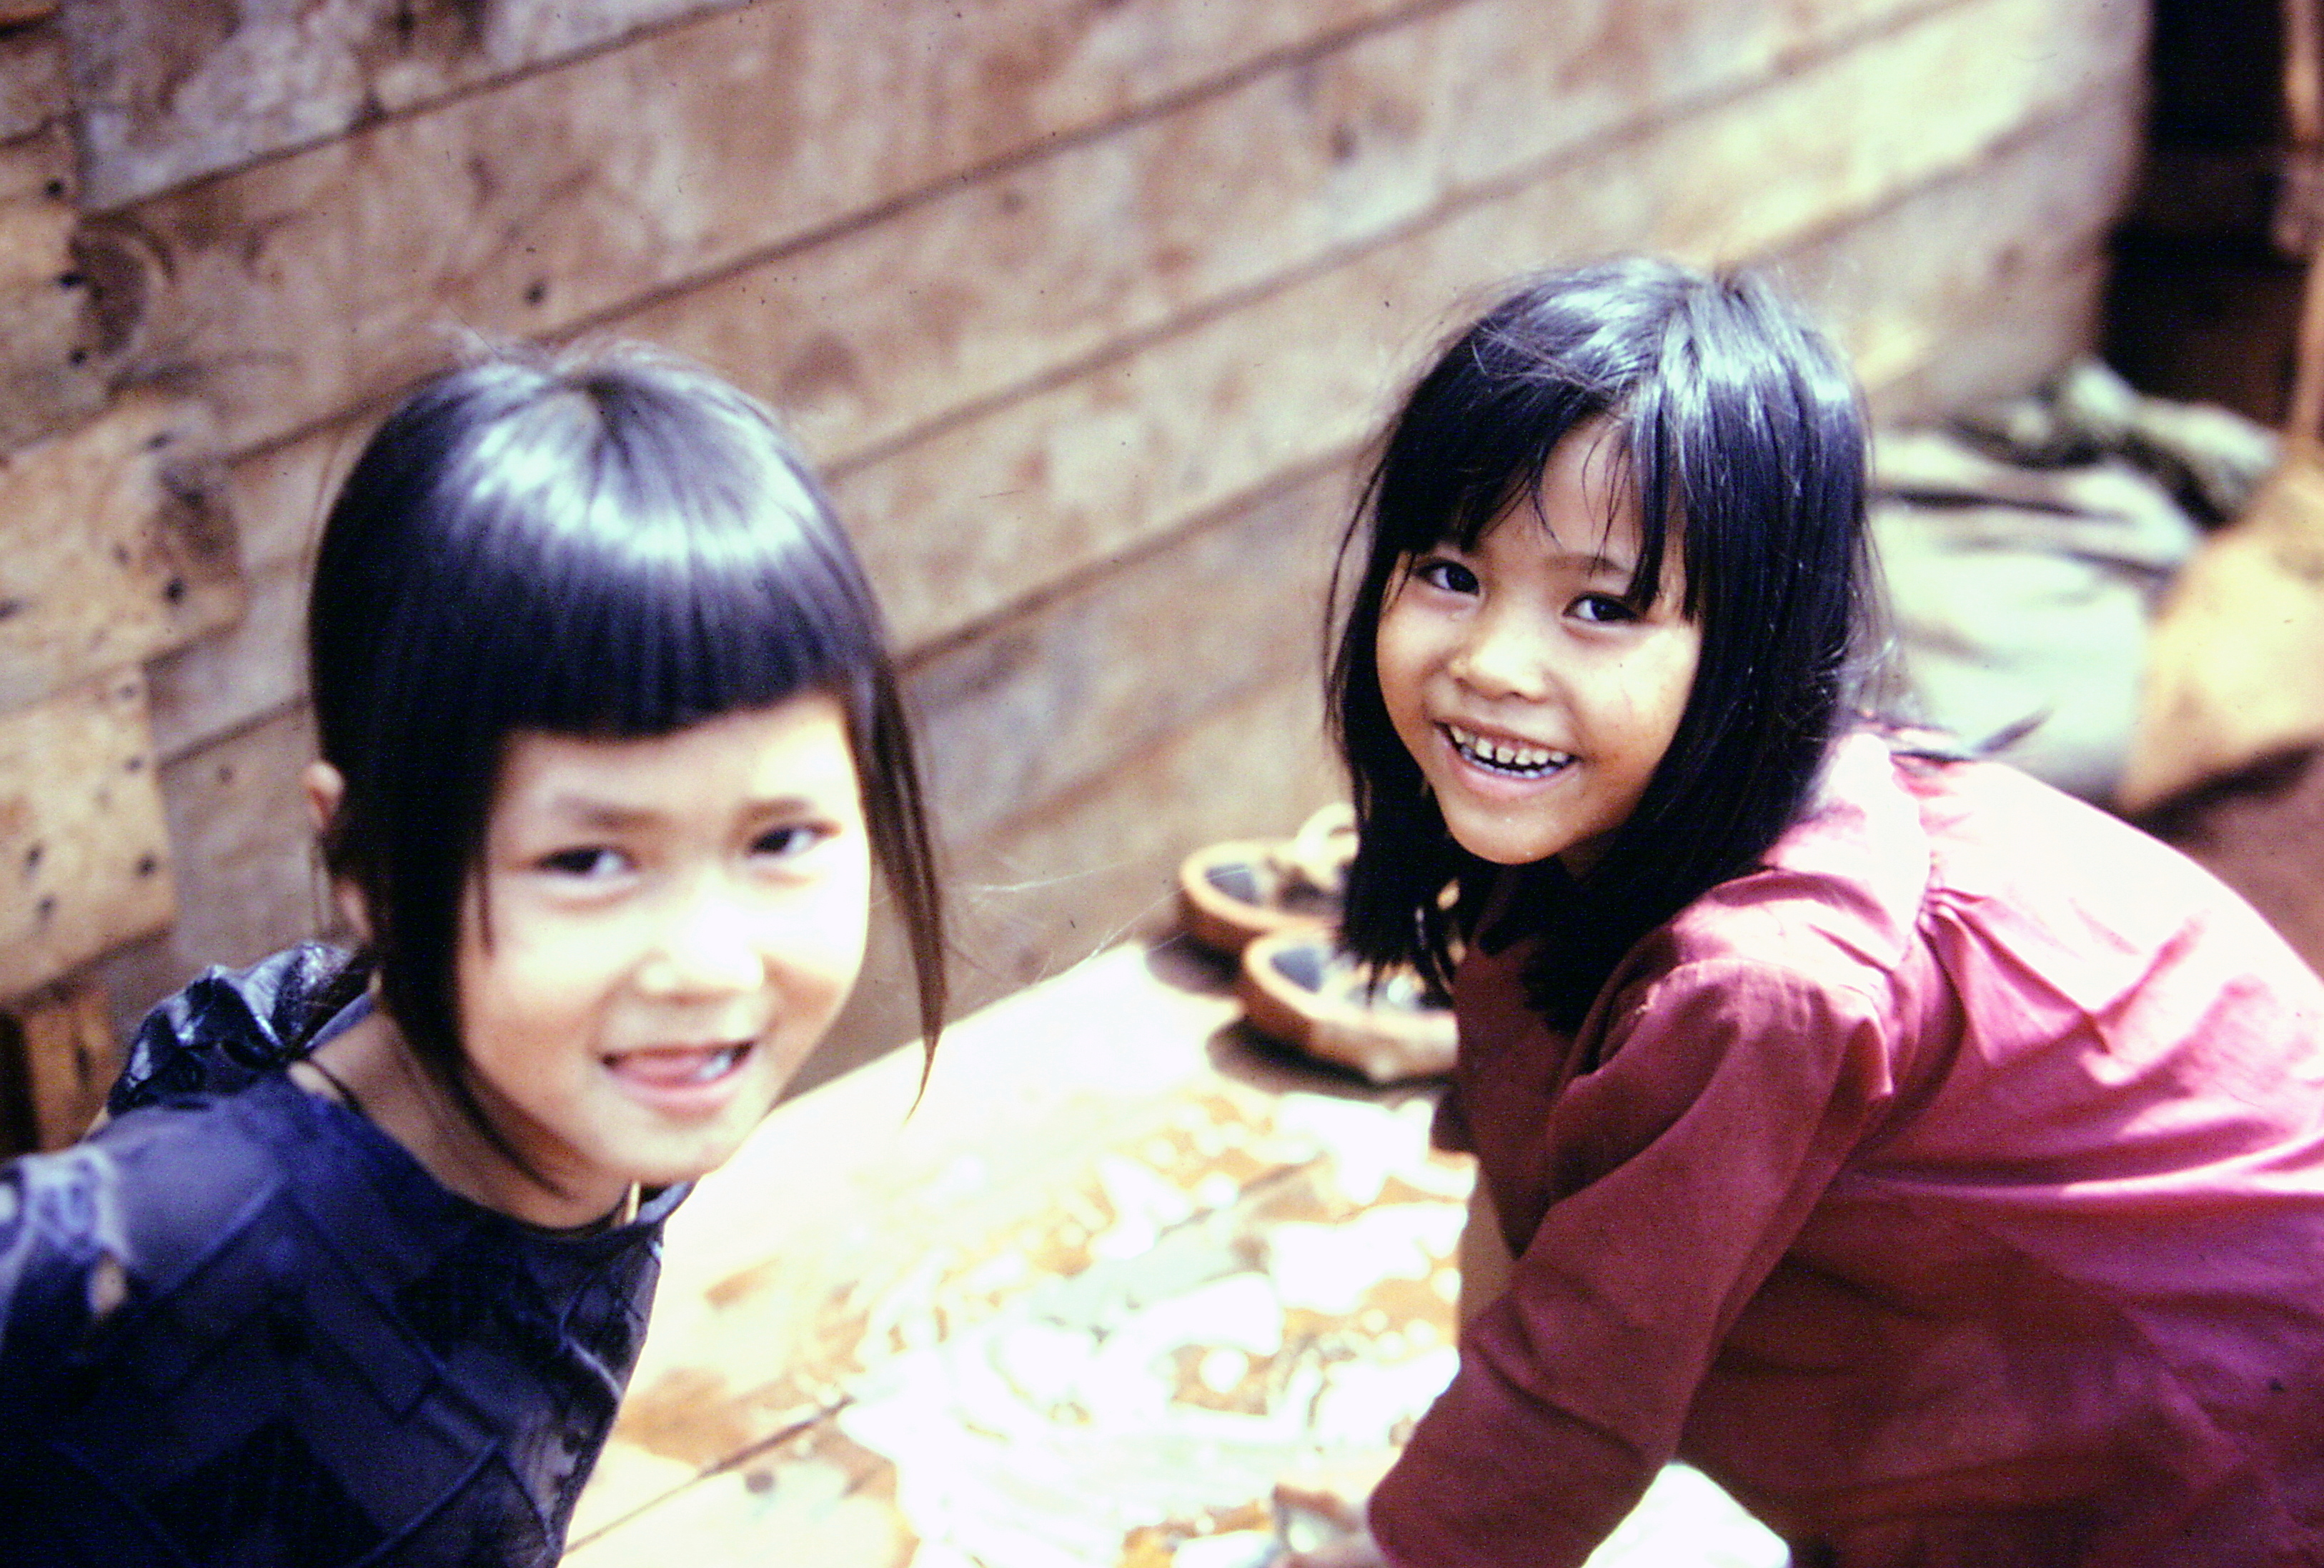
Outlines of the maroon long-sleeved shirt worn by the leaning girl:
{"type": "Polygon", "coordinates": [[[2324,1563],[2324,985],[2236,894],[1855,736],[1578,1034],[1527,950],[1455,985],[1518,1261],[1399,1568],[1580,1563],[1673,1454],[1803,1563],[2324,1563]]]}

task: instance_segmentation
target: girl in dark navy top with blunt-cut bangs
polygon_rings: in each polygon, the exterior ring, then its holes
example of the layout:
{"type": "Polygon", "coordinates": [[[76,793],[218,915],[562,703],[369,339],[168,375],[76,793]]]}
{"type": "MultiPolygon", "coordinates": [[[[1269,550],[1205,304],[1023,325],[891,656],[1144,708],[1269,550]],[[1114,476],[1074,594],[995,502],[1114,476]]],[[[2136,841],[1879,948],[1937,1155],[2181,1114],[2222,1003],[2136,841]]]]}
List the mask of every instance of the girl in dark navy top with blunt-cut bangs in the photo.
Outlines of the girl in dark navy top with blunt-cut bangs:
{"type": "Polygon", "coordinates": [[[878,613],[774,420],[639,351],[397,409],[325,525],[307,792],[351,955],[158,1008],[0,1171],[0,1556],[562,1552],[662,1220],[937,892],[878,613]]]}

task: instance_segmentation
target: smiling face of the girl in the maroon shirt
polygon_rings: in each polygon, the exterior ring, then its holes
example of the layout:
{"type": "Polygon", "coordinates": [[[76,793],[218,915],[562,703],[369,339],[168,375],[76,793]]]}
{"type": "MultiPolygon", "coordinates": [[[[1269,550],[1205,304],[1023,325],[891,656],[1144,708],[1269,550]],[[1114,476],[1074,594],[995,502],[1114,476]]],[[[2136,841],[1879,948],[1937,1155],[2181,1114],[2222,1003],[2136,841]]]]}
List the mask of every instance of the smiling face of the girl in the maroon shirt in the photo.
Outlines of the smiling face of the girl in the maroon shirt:
{"type": "Polygon", "coordinates": [[[1387,718],[1452,839],[1494,864],[1587,871],[1678,734],[1701,627],[1676,553],[1629,597],[1638,504],[1606,420],[1578,425],[1473,551],[1413,555],[1380,611],[1387,718]]]}

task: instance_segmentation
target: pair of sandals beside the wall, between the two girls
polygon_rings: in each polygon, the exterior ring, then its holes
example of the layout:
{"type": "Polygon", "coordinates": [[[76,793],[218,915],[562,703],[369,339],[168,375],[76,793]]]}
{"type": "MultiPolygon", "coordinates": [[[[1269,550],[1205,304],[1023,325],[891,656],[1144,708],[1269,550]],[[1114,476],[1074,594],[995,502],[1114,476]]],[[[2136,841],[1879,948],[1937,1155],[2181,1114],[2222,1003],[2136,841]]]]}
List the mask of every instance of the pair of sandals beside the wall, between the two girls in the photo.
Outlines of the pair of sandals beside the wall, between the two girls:
{"type": "Polygon", "coordinates": [[[1339,906],[1355,813],[1325,806],[1287,841],[1234,841],[1178,866],[1188,936],[1239,959],[1250,1027],[1371,1083],[1452,1071],[1452,1008],[1406,966],[1373,973],[1341,952],[1339,906]]]}

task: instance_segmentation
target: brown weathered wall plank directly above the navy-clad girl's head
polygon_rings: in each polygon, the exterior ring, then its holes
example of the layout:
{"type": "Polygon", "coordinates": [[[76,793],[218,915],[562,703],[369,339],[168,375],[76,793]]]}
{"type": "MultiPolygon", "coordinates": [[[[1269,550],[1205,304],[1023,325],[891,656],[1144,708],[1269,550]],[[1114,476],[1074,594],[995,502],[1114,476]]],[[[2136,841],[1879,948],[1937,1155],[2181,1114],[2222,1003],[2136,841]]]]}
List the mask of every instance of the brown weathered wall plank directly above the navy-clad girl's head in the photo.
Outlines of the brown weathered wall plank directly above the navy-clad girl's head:
{"type": "Polygon", "coordinates": [[[142,202],[156,341],[242,451],[472,332],[574,328],[1394,2],[713,14],[142,202]]]}

